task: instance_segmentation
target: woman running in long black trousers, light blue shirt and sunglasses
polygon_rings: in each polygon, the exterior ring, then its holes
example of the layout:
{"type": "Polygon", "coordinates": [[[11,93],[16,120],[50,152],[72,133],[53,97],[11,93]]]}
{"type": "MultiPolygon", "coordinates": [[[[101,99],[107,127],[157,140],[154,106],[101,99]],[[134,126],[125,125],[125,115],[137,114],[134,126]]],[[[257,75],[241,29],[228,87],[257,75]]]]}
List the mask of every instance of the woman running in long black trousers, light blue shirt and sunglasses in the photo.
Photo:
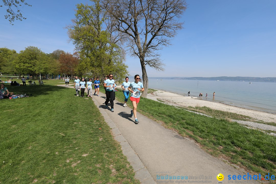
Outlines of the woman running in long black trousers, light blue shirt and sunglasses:
{"type": "Polygon", "coordinates": [[[109,78],[107,80],[105,80],[105,83],[103,84],[103,87],[106,87],[106,100],[105,100],[105,108],[107,109],[107,104],[110,101],[110,106],[111,106],[111,112],[114,112],[113,108],[114,108],[114,102],[113,102],[113,98],[114,98],[114,83],[115,81],[113,80],[113,74],[109,74],[108,76],[109,78]]]}

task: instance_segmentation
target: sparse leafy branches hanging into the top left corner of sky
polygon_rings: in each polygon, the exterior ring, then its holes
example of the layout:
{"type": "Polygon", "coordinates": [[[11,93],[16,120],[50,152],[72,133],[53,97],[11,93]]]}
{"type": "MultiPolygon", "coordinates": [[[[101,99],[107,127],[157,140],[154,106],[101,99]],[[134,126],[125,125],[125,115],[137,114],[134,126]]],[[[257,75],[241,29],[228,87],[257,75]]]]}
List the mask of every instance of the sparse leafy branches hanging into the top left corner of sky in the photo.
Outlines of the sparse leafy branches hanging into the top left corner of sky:
{"type": "MultiPolygon", "coordinates": [[[[23,17],[22,11],[19,9],[19,7],[22,6],[22,4],[26,6],[31,6],[30,4],[26,3],[25,0],[2,0],[2,1],[3,1],[3,5],[7,7],[7,14],[5,15],[5,18],[9,20],[10,24],[12,24],[14,20],[22,21],[22,19],[26,19],[25,17],[23,17]]],[[[0,4],[0,7],[3,7],[3,5],[0,4]]]]}

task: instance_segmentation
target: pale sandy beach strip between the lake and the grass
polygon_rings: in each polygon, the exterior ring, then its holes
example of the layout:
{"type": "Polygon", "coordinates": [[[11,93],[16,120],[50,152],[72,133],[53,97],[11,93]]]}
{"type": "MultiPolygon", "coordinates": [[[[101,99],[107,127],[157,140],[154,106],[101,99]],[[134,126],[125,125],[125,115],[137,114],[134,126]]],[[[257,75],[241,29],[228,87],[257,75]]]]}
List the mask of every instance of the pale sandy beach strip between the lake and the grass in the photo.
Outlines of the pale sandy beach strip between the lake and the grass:
{"type": "Polygon", "coordinates": [[[231,112],[231,113],[242,114],[245,116],[250,116],[257,120],[276,123],[276,114],[235,107],[235,106],[226,105],[226,104],[219,103],[219,102],[210,102],[210,101],[206,101],[206,100],[200,100],[197,97],[193,97],[193,98],[185,97],[185,96],[182,96],[179,94],[175,94],[175,93],[167,92],[167,91],[163,91],[163,90],[157,90],[153,94],[148,94],[147,98],[152,99],[152,100],[160,99],[160,100],[165,101],[167,104],[174,105],[174,106],[182,106],[182,107],[206,106],[206,107],[209,107],[209,108],[212,108],[215,110],[221,110],[221,111],[227,111],[227,112],[231,112]]]}

